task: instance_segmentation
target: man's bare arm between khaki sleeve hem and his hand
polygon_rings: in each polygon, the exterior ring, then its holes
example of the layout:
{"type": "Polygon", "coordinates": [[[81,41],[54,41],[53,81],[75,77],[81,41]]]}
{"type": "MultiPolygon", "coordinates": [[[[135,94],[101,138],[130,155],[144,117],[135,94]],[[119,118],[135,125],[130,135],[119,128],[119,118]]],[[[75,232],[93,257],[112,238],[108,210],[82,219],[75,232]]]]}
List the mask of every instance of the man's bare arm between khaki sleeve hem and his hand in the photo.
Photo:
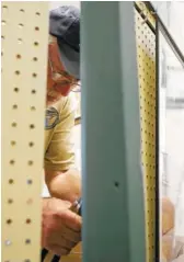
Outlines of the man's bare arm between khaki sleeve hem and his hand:
{"type": "Polygon", "coordinates": [[[45,180],[51,196],[70,201],[81,196],[81,175],[76,169],[66,172],[46,171],[45,180]]]}

